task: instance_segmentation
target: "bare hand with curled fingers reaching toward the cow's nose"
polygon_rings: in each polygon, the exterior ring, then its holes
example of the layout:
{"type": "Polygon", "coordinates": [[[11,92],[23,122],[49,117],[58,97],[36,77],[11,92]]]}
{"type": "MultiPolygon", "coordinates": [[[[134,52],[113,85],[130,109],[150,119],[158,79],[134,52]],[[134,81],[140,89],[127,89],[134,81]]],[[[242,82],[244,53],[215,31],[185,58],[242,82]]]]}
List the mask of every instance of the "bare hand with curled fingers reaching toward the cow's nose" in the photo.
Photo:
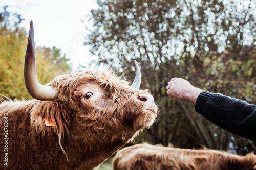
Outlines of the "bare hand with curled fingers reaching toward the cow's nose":
{"type": "Polygon", "coordinates": [[[198,95],[203,91],[192,86],[188,81],[181,78],[173,78],[166,87],[167,94],[171,98],[177,98],[183,101],[189,101],[194,105],[197,102],[198,95]]]}

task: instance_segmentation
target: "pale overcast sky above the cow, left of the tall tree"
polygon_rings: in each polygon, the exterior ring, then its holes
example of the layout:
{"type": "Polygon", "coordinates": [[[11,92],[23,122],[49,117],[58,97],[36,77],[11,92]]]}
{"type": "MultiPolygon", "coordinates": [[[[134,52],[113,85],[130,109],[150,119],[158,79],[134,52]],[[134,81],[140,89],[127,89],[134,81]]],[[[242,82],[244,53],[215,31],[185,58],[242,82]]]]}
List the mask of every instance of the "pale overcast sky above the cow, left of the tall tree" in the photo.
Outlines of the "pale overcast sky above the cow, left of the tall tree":
{"type": "Polygon", "coordinates": [[[60,48],[73,64],[73,71],[79,63],[92,59],[89,47],[83,45],[86,29],[81,20],[86,21],[91,9],[97,8],[96,0],[1,0],[0,7],[4,5],[8,5],[8,11],[22,15],[22,26],[27,31],[32,20],[35,45],[60,48]]]}

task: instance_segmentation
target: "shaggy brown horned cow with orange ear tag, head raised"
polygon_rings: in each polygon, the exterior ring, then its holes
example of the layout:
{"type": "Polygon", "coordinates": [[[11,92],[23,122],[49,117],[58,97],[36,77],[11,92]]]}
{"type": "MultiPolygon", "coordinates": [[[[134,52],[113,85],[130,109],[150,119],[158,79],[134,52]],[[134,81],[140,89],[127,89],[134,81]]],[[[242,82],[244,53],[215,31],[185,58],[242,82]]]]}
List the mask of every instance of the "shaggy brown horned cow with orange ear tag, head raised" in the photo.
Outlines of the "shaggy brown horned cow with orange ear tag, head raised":
{"type": "Polygon", "coordinates": [[[154,122],[157,107],[139,90],[139,69],[132,86],[110,71],[61,75],[43,86],[34,57],[31,22],[24,75],[35,99],[0,105],[0,169],[93,169],[154,122]]]}

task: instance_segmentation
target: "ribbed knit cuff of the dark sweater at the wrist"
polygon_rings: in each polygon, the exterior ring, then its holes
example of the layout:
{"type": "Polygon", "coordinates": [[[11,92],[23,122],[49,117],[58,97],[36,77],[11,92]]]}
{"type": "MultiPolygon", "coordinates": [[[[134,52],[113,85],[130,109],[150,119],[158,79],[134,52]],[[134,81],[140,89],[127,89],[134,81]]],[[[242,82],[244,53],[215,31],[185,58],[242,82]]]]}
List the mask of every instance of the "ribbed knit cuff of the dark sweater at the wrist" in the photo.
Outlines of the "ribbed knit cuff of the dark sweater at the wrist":
{"type": "Polygon", "coordinates": [[[195,111],[199,114],[203,115],[203,110],[204,110],[204,106],[207,103],[208,99],[211,96],[211,92],[209,91],[202,91],[198,98],[197,98],[197,102],[196,102],[196,106],[195,106],[195,111]]]}

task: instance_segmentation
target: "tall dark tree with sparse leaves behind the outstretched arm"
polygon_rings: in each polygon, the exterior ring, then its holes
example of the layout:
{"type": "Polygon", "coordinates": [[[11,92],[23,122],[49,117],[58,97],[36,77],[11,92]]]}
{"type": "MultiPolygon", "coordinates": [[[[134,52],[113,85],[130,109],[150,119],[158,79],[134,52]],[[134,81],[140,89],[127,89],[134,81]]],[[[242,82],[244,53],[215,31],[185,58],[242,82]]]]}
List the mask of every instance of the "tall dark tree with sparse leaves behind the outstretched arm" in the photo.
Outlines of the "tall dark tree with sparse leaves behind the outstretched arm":
{"type": "Polygon", "coordinates": [[[256,148],[207,122],[190,103],[170,99],[165,89],[170,78],[182,77],[205,90],[256,103],[255,1],[98,0],[97,4],[99,8],[91,11],[94,28],[86,38],[91,53],[99,56],[96,62],[133,80],[137,60],[141,88],[150,90],[160,110],[157,122],[136,141],[172,142],[181,148],[203,144],[220,150],[229,149],[232,142],[230,149],[238,154],[256,148]]]}

